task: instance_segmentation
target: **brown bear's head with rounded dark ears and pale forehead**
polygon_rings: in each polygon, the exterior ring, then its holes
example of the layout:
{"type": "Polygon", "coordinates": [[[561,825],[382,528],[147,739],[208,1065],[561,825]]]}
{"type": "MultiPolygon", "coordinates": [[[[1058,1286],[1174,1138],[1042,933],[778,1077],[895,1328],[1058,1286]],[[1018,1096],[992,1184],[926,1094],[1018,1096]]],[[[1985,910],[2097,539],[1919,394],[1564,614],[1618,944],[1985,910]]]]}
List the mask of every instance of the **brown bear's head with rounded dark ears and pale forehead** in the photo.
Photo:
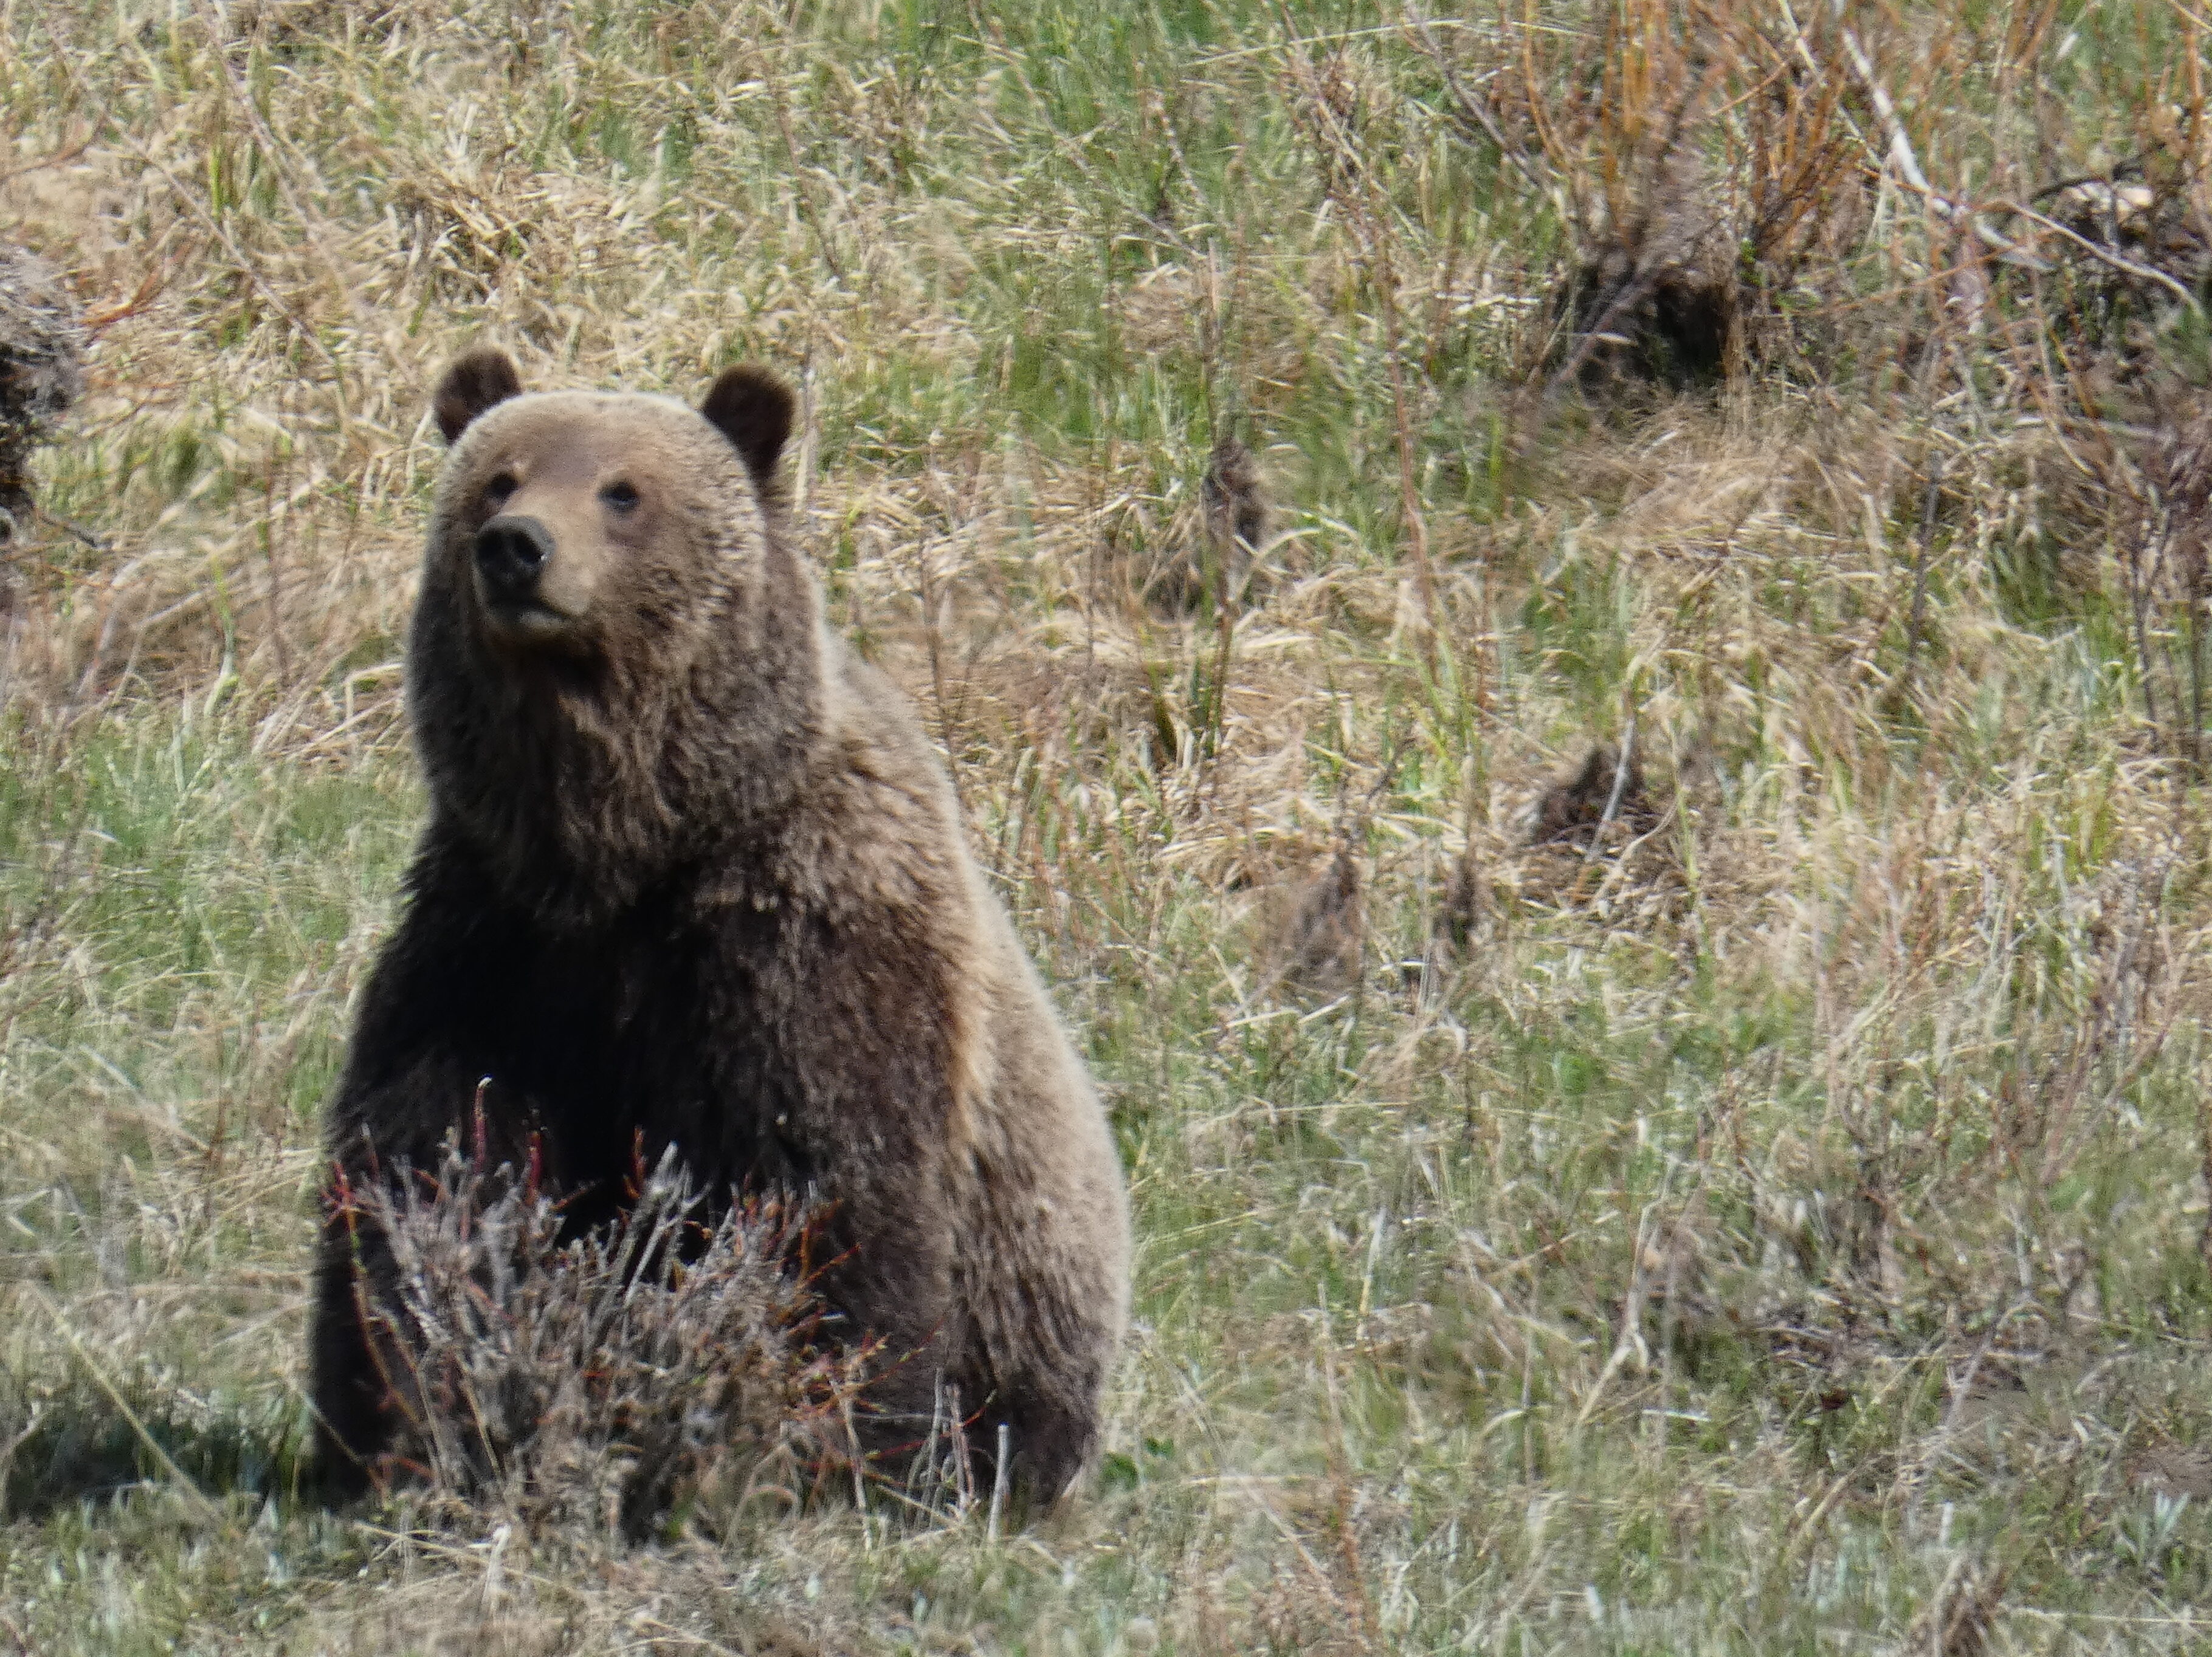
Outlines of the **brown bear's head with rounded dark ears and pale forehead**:
{"type": "Polygon", "coordinates": [[[792,396],[752,367],[697,409],[524,394],[476,350],[436,418],[407,648],[434,825],[588,923],[759,832],[821,743],[821,604],[774,487],[792,396]]]}

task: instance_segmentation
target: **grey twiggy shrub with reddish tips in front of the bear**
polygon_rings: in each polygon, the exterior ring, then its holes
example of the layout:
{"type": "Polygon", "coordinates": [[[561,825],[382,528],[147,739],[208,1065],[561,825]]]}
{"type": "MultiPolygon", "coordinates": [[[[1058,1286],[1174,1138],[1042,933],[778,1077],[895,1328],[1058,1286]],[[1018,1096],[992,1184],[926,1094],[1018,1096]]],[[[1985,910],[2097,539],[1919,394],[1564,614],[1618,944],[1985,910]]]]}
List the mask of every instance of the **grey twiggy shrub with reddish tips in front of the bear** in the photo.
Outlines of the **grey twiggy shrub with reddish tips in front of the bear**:
{"type": "Polygon", "coordinates": [[[365,1305],[403,1420],[385,1487],[644,1538],[695,1507],[796,1507],[856,1467],[863,1354],[818,1341],[801,1215],[712,1217],[670,1150],[622,1219],[568,1237],[529,1173],[458,1142],[349,1201],[396,1281],[365,1305]]]}

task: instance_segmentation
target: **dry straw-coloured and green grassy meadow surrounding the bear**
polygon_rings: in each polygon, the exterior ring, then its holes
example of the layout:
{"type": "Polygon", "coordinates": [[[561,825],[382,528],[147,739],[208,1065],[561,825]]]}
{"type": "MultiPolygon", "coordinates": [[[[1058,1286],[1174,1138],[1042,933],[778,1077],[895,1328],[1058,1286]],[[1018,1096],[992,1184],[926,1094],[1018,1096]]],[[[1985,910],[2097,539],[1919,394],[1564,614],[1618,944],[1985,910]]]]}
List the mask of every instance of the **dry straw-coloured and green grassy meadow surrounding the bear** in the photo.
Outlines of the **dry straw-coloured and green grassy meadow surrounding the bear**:
{"type": "Polygon", "coordinates": [[[2203,27],[0,0],[0,1646],[2199,1646],[2203,27]],[[480,332],[803,385],[1130,1173],[1033,1531],[299,1491],[480,332]]]}

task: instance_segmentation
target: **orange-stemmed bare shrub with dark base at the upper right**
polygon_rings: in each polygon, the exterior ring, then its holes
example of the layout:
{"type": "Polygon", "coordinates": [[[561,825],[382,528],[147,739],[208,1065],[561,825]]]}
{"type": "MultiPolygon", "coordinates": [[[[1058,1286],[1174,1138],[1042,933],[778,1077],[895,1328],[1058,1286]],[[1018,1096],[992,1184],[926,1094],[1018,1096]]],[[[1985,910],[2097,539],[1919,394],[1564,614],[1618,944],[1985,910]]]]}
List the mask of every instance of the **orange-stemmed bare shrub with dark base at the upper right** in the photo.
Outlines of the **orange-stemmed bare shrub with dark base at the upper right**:
{"type": "Polygon", "coordinates": [[[1597,31],[1515,33],[1500,62],[1458,62],[1420,31],[1460,133],[1566,212],[1555,387],[1697,385],[1803,350],[1796,290],[1840,274],[1867,219],[1838,31],[1652,0],[1597,31]]]}

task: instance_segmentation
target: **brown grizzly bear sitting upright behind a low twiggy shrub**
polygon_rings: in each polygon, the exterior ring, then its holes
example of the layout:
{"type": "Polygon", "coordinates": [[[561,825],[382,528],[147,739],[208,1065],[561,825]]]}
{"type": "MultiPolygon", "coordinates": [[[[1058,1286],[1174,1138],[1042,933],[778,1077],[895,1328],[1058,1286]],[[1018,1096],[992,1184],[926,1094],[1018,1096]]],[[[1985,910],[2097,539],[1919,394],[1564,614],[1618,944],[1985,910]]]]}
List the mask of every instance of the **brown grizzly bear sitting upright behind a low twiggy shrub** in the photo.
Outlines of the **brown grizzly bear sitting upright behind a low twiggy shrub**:
{"type": "Polygon", "coordinates": [[[400,1407],[392,1250],[345,1192],[467,1122],[575,1228],[670,1146],[695,1188],[810,1201],[827,1323],[876,1354],[872,1453],[956,1400],[973,1471],[1055,1500],[1128,1312],[1121,1168],[942,761],[825,628],[776,489],[790,392],[522,394],[476,350],[436,420],[429,816],[327,1113],[327,1478],[363,1487],[400,1407]]]}

